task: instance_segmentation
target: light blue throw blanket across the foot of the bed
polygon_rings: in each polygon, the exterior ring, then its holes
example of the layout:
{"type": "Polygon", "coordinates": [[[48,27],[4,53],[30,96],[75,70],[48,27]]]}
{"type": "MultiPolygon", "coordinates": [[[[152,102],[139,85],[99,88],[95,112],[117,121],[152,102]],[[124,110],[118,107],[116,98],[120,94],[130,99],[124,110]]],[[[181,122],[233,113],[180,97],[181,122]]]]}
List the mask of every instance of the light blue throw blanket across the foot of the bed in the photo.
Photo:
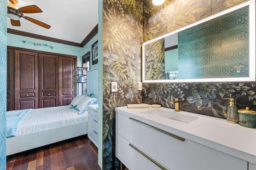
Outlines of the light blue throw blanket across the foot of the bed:
{"type": "Polygon", "coordinates": [[[14,110],[6,112],[6,137],[13,137],[17,135],[17,130],[32,109],[14,110]]]}

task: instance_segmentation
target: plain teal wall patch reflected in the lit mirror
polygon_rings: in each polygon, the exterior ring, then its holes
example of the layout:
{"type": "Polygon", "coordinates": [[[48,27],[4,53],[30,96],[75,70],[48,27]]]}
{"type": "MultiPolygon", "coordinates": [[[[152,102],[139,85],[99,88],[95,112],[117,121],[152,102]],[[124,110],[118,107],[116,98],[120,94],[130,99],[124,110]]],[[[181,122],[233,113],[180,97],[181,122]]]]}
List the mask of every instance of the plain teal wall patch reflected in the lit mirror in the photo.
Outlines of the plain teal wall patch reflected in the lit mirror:
{"type": "Polygon", "coordinates": [[[178,70],[178,49],[166,51],[164,63],[165,71],[178,70]]]}

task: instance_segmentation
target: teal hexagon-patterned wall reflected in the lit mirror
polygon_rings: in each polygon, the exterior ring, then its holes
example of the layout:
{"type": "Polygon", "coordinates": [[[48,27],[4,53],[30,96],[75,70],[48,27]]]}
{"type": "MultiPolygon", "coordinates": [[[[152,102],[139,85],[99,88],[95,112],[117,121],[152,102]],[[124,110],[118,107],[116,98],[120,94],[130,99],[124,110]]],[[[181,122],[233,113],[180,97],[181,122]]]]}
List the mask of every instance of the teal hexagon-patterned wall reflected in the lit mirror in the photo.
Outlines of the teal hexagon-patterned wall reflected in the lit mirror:
{"type": "Polygon", "coordinates": [[[249,7],[178,33],[179,79],[249,76],[249,7]]]}

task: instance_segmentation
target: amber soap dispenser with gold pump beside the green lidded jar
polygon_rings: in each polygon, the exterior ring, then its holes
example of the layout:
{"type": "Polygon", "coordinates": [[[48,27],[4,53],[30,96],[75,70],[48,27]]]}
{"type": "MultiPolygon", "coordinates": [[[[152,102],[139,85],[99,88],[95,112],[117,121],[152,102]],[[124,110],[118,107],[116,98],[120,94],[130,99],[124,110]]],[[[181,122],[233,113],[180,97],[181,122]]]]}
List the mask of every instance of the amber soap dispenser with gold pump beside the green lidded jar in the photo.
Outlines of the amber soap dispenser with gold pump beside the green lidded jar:
{"type": "Polygon", "coordinates": [[[234,98],[224,98],[229,100],[229,105],[227,107],[227,121],[229,123],[237,123],[238,122],[238,113],[237,107],[235,105],[234,98]]]}

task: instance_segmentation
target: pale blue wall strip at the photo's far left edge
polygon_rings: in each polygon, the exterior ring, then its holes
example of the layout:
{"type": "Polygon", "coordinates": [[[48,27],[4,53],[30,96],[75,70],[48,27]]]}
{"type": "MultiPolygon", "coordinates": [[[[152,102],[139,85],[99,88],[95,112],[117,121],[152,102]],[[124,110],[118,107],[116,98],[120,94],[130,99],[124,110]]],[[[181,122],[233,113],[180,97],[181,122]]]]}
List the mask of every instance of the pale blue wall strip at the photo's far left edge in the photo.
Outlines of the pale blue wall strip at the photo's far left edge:
{"type": "Polygon", "coordinates": [[[0,169],[6,169],[6,15],[7,1],[0,0],[0,169]]]}

